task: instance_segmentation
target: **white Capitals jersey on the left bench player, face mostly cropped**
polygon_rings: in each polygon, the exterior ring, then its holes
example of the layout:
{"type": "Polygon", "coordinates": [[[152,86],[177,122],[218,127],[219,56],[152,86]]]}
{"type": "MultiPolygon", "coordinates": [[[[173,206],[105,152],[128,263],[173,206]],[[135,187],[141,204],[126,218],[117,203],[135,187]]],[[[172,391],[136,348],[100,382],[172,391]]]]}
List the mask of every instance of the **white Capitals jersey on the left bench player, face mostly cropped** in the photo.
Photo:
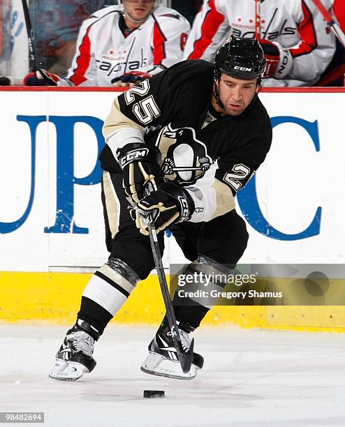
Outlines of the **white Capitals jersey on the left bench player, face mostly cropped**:
{"type": "Polygon", "coordinates": [[[111,86],[115,77],[131,70],[150,74],[179,62],[189,22],[176,10],[157,6],[138,29],[125,38],[119,27],[123,6],[95,12],[80,27],[77,50],[65,80],[66,86],[111,86]],[[153,69],[153,70],[152,70],[153,69]]]}

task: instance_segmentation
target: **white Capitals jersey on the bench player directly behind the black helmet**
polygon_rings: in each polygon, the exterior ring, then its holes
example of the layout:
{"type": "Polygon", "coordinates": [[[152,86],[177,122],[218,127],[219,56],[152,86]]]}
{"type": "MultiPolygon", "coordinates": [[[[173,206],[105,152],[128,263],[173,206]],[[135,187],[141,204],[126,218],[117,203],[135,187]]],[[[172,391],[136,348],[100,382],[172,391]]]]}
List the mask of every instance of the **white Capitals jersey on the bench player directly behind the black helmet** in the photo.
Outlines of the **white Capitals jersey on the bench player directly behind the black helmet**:
{"type": "MultiPolygon", "coordinates": [[[[343,1],[343,0],[341,0],[343,1]]],[[[323,0],[327,8],[330,0],[323,0]]],[[[231,34],[254,38],[254,0],[204,0],[186,43],[184,59],[214,61],[231,34]]],[[[267,78],[263,86],[311,86],[335,54],[335,37],[311,0],[261,0],[261,38],[290,50],[291,71],[283,80],[267,78]]]]}

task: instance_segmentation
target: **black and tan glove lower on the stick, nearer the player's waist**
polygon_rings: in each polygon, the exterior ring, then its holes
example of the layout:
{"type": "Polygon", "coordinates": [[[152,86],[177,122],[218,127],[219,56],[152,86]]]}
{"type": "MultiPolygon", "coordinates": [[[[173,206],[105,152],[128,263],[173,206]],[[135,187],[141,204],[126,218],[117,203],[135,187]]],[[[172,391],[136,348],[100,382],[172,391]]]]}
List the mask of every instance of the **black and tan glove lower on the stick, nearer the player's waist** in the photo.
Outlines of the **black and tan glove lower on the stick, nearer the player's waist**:
{"type": "Polygon", "coordinates": [[[140,233],[148,235],[145,217],[152,213],[156,232],[165,230],[172,224],[188,221],[194,211],[194,202],[183,187],[166,181],[159,190],[152,191],[137,204],[135,225],[140,233]]]}

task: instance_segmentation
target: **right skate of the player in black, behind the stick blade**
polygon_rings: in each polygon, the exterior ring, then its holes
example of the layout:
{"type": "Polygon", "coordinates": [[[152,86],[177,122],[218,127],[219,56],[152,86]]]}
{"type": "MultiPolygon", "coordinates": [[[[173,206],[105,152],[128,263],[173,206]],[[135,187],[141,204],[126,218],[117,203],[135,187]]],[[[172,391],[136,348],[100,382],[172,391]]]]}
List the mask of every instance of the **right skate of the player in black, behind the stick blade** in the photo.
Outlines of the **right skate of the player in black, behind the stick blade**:
{"type": "MultiPolygon", "coordinates": [[[[181,329],[180,326],[179,336],[182,347],[189,349],[191,338],[189,338],[189,334],[181,329]]],[[[194,352],[191,370],[188,373],[182,372],[168,321],[164,317],[154,339],[149,343],[149,355],[142,362],[140,369],[142,372],[159,375],[160,377],[175,378],[176,380],[193,380],[196,377],[197,370],[203,368],[203,364],[203,356],[194,352]]]]}

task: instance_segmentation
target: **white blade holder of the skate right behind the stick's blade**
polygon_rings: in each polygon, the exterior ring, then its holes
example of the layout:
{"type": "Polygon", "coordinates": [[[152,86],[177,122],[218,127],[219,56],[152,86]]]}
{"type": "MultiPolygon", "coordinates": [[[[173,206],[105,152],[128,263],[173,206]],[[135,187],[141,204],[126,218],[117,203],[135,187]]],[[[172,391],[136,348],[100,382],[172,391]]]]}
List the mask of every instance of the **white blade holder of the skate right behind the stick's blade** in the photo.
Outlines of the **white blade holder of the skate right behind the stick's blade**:
{"type": "Polygon", "coordinates": [[[150,353],[140,367],[142,372],[174,380],[193,380],[198,368],[192,364],[188,373],[183,373],[179,361],[170,361],[160,354],[150,353]]]}

